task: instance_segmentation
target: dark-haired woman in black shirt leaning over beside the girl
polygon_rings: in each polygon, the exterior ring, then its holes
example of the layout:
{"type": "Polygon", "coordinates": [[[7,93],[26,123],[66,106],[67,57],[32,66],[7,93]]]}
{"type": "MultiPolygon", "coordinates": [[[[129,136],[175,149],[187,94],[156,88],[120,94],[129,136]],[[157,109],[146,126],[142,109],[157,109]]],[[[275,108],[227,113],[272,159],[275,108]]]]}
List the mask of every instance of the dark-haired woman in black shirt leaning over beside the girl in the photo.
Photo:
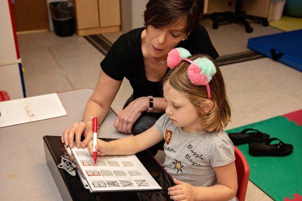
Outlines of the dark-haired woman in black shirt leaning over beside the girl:
{"type": "MultiPolygon", "coordinates": [[[[122,35],[101,62],[101,72],[94,93],[88,100],[82,122],[75,122],[62,134],[62,143],[85,148],[93,138],[91,119],[102,122],[126,77],[133,94],[117,116],[114,127],[134,135],[152,127],[165,113],[161,80],[168,72],[167,55],[175,47],[192,54],[203,53],[213,59],[218,54],[207,31],[201,25],[203,0],[149,0],[144,11],[146,27],[122,35]],[[85,140],[81,143],[84,132],[85,140]]],[[[150,148],[155,155],[162,143],[150,148]]]]}

